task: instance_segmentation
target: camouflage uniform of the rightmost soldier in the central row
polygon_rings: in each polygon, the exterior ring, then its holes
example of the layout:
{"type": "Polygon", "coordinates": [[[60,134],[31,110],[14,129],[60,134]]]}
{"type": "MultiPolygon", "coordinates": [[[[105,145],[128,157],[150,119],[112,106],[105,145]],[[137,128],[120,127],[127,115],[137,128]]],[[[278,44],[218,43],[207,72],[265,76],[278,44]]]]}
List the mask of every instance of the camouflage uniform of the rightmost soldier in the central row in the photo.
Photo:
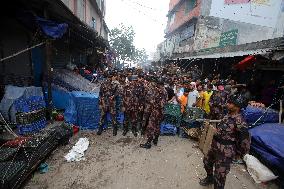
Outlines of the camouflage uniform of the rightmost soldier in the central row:
{"type": "Polygon", "coordinates": [[[148,141],[152,141],[160,135],[160,125],[163,121],[163,111],[164,106],[167,103],[167,99],[168,93],[164,87],[154,89],[154,98],[150,101],[152,111],[146,130],[148,141]]]}

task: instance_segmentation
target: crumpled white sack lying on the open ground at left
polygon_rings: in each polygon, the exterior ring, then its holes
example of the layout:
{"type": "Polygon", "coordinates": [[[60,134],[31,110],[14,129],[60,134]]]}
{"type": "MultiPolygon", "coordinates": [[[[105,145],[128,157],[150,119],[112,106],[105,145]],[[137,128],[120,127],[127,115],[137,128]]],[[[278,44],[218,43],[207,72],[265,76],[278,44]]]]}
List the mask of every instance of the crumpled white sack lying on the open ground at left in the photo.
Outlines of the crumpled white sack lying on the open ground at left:
{"type": "Polygon", "coordinates": [[[80,161],[84,159],[84,152],[89,147],[89,140],[87,138],[80,138],[79,141],[72,147],[69,153],[64,156],[68,162],[80,161]]]}

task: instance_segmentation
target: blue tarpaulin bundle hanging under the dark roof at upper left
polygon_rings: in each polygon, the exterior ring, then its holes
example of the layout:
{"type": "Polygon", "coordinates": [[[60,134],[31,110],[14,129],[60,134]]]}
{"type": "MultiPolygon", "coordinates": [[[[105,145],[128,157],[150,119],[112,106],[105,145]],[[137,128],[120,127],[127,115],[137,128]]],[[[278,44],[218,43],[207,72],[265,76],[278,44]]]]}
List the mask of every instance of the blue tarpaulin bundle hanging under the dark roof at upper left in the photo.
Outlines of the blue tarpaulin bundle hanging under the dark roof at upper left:
{"type": "Polygon", "coordinates": [[[54,39],[61,38],[68,28],[68,24],[66,23],[59,24],[54,21],[46,20],[38,16],[36,16],[36,22],[41,27],[45,35],[52,37],[54,39]]]}

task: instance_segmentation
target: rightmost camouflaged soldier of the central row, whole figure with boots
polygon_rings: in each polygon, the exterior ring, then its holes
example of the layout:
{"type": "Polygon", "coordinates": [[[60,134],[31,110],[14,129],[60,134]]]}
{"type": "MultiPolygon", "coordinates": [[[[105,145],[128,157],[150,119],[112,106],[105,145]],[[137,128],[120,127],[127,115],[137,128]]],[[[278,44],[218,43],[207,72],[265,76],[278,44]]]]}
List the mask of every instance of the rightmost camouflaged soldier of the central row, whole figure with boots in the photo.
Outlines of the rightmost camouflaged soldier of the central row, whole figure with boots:
{"type": "Polygon", "coordinates": [[[154,145],[158,144],[160,125],[163,121],[163,111],[167,99],[168,94],[164,88],[164,82],[161,79],[158,79],[154,88],[154,98],[150,101],[152,111],[146,128],[147,142],[145,144],[140,144],[140,147],[150,149],[152,141],[154,145]]]}

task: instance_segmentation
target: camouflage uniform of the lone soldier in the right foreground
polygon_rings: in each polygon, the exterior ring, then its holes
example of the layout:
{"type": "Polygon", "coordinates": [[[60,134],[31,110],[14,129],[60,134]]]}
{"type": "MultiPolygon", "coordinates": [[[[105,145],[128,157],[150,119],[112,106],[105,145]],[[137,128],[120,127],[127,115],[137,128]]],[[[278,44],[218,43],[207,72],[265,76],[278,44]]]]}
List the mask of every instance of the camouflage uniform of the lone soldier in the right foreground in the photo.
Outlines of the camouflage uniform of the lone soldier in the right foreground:
{"type": "Polygon", "coordinates": [[[238,152],[248,153],[250,148],[250,138],[241,139],[244,136],[247,123],[241,114],[234,116],[227,115],[218,124],[216,134],[214,135],[211,149],[204,158],[204,168],[207,176],[213,176],[214,170],[214,188],[223,189],[226,182],[226,176],[230,171],[230,164],[238,152]]]}

